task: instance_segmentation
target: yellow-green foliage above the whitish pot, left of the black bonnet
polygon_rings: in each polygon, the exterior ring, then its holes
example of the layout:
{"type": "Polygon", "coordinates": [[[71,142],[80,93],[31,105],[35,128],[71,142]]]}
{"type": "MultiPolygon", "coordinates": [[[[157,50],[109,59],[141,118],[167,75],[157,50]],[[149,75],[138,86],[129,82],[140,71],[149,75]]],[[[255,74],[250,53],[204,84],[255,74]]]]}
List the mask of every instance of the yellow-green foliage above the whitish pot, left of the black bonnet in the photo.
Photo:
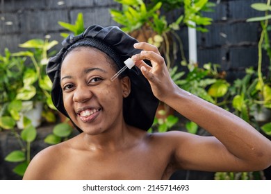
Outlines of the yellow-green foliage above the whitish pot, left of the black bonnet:
{"type": "Polygon", "coordinates": [[[47,121],[55,121],[54,114],[51,110],[55,109],[51,101],[51,80],[45,72],[45,66],[49,60],[49,50],[58,42],[49,39],[30,39],[23,44],[21,48],[27,48],[28,51],[13,53],[15,57],[26,57],[30,59],[25,64],[24,75],[22,78],[23,86],[17,90],[15,100],[32,100],[34,102],[44,103],[43,116],[47,121]]]}

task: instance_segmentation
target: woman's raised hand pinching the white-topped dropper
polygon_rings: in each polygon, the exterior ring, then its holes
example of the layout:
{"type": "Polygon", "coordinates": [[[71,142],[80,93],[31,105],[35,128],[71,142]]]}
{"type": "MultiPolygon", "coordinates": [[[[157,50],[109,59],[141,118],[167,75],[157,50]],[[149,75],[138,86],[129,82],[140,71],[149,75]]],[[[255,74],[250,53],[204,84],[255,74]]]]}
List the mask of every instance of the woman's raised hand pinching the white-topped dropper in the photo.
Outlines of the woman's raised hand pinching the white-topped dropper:
{"type": "Polygon", "coordinates": [[[140,54],[133,55],[132,59],[142,74],[149,80],[154,96],[161,101],[165,101],[169,94],[172,94],[176,85],[170,78],[164,58],[154,45],[140,42],[134,45],[135,48],[142,49],[140,54]],[[151,62],[150,67],[143,60],[151,62]]]}

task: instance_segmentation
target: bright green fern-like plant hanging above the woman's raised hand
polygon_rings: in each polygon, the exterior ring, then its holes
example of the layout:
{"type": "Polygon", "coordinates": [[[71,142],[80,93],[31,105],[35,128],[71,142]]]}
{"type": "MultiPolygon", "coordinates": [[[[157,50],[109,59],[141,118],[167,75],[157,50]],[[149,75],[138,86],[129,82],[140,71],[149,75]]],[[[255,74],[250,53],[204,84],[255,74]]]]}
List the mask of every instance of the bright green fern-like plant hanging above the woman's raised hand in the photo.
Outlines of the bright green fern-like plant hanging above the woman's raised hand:
{"type": "MultiPolygon", "coordinates": [[[[211,19],[202,17],[200,12],[210,4],[208,0],[198,0],[195,3],[192,1],[183,1],[185,14],[180,15],[176,21],[171,24],[167,23],[165,15],[163,15],[163,3],[170,1],[151,1],[144,3],[142,0],[115,0],[122,4],[122,10],[111,9],[110,13],[113,19],[122,26],[122,30],[130,33],[139,41],[149,42],[156,45],[160,52],[164,55],[167,62],[167,67],[172,67],[174,60],[176,60],[177,45],[181,51],[181,58],[184,63],[186,58],[183,53],[183,45],[179,35],[176,35],[176,30],[180,30],[182,24],[192,26],[190,21],[194,21],[197,30],[206,31],[206,26],[211,24],[211,19]],[[173,40],[176,39],[176,42],[173,40]]],[[[177,7],[179,8],[179,7],[177,7]]],[[[195,27],[195,26],[193,26],[195,27]]]]}

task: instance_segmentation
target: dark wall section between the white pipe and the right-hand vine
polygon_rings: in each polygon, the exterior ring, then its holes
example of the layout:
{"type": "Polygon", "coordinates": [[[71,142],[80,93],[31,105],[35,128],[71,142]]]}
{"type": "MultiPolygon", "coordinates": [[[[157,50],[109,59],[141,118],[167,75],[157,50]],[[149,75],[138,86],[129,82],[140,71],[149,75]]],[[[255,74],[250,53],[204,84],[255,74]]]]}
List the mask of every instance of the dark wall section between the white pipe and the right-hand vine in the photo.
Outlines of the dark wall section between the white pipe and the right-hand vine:
{"type": "MultiPolygon", "coordinates": [[[[208,33],[198,33],[199,63],[221,64],[227,70],[229,80],[243,77],[246,67],[256,67],[258,62],[258,39],[261,26],[258,22],[246,22],[250,17],[263,16],[250,7],[252,3],[266,3],[266,0],[234,0],[220,2],[215,12],[206,16],[213,18],[208,33]]],[[[265,57],[263,68],[267,70],[265,57]]]]}

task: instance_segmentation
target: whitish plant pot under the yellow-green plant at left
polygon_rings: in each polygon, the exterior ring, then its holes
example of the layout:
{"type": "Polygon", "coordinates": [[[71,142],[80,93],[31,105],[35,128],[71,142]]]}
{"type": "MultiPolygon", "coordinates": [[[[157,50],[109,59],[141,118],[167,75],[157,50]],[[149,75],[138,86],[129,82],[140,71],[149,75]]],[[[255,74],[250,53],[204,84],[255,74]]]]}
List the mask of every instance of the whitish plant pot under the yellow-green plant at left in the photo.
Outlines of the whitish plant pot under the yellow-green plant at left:
{"type": "Polygon", "coordinates": [[[24,129],[24,116],[31,120],[34,127],[39,127],[42,120],[42,109],[42,102],[23,101],[22,110],[19,113],[20,119],[17,121],[17,127],[21,130],[24,129]]]}

